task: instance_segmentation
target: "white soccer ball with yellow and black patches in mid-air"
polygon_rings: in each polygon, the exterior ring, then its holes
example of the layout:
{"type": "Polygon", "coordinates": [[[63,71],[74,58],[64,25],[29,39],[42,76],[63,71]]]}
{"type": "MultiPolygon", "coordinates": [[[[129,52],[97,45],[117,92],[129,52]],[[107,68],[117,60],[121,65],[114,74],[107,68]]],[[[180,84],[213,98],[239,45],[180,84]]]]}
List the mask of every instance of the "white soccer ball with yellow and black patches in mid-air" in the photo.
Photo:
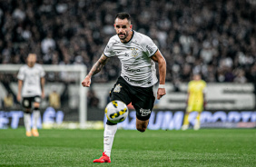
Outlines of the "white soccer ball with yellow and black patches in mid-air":
{"type": "Polygon", "coordinates": [[[122,123],[128,115],[128,107],[121,101],[112,101],[107,104],[105,114],[111,123],[122,123]]]}

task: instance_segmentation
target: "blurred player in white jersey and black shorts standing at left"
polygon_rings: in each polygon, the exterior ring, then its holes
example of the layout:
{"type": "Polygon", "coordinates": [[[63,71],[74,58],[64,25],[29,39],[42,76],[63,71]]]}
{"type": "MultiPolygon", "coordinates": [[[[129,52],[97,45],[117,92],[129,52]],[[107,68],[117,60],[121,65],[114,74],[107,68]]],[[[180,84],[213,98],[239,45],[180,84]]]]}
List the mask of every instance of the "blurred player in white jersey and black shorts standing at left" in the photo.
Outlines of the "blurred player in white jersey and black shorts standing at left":
{"type": "Polygon", "coordinates": [[[44,69],[42,65],[35,64],[36,54],[28,54],[26,64],[17,75],[18,93],[17,101],[24,107],[24,123],[26,136],[39,136],[37,121],[40,118],[41,98],[44,98],[44,69]],[[31,113],[33,112],[33,129],[31,131],[31,113]]]}

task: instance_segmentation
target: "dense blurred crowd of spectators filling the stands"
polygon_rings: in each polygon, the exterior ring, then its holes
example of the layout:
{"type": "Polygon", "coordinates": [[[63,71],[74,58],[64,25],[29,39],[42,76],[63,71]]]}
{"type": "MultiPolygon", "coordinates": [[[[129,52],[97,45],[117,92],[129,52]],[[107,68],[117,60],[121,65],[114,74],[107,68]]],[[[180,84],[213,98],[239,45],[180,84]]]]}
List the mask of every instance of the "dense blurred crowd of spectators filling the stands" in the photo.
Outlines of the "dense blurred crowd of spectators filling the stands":
{"type": "MultiPolygon", "coordinates": [[[[103,54],[115,34],[114,17],[132,15],[133,29],[149,35],[167,62],[167,82],[256,83],[255,0],[5,0],[0,1],[0,64],[85,64],[103,54]]],[[[113,58],[94,82],[117,78],[113,58]]]]}

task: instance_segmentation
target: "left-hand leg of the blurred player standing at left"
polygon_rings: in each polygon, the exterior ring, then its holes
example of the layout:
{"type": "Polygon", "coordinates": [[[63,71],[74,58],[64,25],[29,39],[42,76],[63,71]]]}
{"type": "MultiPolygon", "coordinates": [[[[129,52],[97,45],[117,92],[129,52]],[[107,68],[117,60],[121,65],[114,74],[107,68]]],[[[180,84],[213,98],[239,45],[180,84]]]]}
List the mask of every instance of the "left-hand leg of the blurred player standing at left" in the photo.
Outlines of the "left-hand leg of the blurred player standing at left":
{"type": "Polygon", "coordinates": [[[25,124],[25,135],[30,137],[31,133],[31,106],[32,100],[31,98],[23,98],[22,105],[24,107],[24,124],[25,124]]]}

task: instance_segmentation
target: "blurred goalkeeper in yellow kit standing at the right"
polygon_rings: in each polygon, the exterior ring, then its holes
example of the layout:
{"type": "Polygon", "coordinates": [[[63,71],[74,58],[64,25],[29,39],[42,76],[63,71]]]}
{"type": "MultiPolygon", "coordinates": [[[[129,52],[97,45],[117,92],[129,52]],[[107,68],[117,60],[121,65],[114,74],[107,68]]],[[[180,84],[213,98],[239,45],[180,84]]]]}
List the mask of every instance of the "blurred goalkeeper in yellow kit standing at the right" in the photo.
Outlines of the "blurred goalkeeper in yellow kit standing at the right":
{"type": "Polygon", "coordinates": [[[200,129],[200,115],[206,104],[205,92],[206,83],[201,79],[200,74],[194,74],[193,80],[188,84],[187,108],[182,125],[183,131],[189,128],[189,114],[192,112],[197,112],[196,123],[193,129],[200,129]]]}

